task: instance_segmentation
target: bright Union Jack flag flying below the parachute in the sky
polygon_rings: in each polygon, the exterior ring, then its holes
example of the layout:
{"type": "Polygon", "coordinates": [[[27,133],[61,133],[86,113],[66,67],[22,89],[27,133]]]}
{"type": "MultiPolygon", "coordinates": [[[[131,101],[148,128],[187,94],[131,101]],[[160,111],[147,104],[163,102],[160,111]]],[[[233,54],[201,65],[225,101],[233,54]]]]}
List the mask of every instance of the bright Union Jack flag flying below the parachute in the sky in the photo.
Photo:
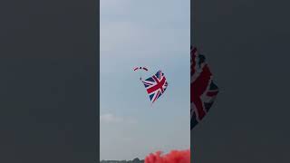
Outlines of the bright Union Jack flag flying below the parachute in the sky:
{"type": "Polygon", "coordinates": [[[155,75],[142,82],[152,103],[160,98],[169,85],[166,81],[164,73],[161,71],[158,71],[155,75]]]}

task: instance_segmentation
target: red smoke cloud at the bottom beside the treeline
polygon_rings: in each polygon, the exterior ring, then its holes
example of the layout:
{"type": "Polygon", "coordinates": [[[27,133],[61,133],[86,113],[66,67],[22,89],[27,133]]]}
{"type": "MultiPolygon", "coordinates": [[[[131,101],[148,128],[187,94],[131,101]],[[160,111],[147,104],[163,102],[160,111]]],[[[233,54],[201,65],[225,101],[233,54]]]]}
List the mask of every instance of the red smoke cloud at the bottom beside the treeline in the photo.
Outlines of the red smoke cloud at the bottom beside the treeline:
{"type": "Polygon", "coordinates": [[[172,150],[166,155],[157,151],[148,155],[145,158],[145,163],[190,163],[190,149],[172,150]]]}

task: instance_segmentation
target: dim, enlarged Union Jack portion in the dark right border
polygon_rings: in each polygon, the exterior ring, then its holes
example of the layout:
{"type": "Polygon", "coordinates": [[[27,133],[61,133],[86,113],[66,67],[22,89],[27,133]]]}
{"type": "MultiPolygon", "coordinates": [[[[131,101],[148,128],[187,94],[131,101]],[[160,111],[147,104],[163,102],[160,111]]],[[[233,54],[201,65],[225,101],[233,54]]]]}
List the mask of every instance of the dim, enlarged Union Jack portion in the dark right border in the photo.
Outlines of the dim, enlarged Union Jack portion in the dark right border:
{"type": "Polygon", "coordinates": [[[193,129],[208,113],[218,95],[204,55],[196,47],[190,47],[190,129],[193,129]]]}

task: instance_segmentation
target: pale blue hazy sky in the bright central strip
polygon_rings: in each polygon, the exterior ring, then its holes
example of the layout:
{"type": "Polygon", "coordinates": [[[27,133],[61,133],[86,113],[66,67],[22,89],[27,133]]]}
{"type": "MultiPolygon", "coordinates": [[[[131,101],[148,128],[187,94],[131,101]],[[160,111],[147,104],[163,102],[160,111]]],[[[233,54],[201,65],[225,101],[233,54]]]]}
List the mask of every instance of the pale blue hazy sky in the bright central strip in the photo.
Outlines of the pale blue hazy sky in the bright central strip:
{"type": "Polygon", "coordinates": [[[189,149],[189,0],[101,0],[100,158],[189,149]],[[168,89],[151,105],[135,66],[161,70],[168,89]]]}

